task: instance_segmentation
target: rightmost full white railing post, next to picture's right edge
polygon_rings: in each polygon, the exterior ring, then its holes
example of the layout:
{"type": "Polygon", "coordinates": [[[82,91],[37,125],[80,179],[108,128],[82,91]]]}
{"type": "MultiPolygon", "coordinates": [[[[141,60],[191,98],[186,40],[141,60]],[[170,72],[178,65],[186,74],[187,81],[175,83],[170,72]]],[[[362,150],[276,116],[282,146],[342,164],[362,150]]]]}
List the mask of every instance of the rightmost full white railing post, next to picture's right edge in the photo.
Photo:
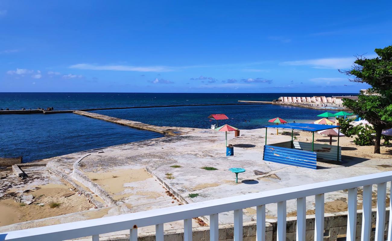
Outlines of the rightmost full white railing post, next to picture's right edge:
{"type": "Polygon", "coordinates": [[[385,202],[387,196],[387,183],[377,184],[377,217],[376,217],[376,239],[384,241],[385,229],[385,202]]]}

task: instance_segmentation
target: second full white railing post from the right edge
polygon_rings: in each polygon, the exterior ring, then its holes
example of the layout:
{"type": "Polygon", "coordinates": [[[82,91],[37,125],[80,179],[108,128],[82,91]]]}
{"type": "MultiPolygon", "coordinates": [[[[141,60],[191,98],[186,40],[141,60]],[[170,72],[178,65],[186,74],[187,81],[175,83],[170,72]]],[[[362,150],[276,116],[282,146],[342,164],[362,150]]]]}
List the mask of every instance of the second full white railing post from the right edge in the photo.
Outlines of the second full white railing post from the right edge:
{"type": "Polygon", "coordinates": [[[372,225],[372,185],[363,187],[363,212],[361,241],[370,241],[370,228],[372,225]]]}

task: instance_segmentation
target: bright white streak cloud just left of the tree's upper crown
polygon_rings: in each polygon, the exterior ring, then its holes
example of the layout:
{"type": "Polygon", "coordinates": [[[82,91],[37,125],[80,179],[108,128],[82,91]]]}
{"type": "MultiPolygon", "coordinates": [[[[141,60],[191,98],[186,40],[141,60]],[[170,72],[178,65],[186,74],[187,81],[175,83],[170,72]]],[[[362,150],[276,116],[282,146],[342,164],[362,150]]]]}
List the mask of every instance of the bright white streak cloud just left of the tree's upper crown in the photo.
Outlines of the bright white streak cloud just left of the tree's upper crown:
{"type": "Polygon", "coordinates": [[[286,61],[280,65],[309,65],[316,69],[345,69],[349,68],[355,61],[354,57],[345,58],[319,58],[312,60],[286,61]]]}

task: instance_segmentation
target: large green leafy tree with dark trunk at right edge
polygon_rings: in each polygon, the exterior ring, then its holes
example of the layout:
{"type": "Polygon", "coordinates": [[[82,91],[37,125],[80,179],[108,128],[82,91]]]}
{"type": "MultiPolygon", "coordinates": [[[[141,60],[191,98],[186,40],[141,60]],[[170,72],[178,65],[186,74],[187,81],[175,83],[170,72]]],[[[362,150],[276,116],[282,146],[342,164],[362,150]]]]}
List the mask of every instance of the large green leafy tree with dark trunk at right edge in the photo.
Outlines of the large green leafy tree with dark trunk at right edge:
{"type": "Polygon", "coordinates": [[[392,127],[392,45],[374,52],[378,57],[357,56],[351,69],[339,72],[352,82],[371,85],[367,94],[359,94],[358,101],[344,99],[343,105],[374,126],[374,153],[380,153],[381,132],[392,127]]]}

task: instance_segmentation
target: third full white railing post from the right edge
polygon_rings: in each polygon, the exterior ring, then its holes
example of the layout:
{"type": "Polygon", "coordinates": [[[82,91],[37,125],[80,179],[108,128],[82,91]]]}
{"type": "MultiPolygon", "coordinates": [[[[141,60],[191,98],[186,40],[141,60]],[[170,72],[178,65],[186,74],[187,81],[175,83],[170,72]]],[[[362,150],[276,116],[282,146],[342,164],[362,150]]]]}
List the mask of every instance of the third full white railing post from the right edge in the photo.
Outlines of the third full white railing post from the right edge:
{"type": "Polygon", "coordinates": [[[357,229],[357,192],[358,188],[348,189],[347,241],[355,241],[357,229]]]}

